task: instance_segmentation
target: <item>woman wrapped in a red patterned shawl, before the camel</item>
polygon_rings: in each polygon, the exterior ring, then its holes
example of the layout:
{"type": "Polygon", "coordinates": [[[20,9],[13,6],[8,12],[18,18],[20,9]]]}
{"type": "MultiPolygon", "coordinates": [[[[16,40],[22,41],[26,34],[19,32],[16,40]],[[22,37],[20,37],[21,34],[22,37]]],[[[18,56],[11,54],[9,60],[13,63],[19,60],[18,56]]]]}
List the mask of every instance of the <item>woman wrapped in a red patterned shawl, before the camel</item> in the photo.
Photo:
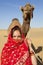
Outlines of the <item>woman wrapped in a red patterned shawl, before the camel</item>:
{"type": "Polygon", "coordinates": [[[1,65],[36,65],[34,52],[27,43],[31,42],[22,35],[20,27],[14,26],[2,50],[1,65]]]}

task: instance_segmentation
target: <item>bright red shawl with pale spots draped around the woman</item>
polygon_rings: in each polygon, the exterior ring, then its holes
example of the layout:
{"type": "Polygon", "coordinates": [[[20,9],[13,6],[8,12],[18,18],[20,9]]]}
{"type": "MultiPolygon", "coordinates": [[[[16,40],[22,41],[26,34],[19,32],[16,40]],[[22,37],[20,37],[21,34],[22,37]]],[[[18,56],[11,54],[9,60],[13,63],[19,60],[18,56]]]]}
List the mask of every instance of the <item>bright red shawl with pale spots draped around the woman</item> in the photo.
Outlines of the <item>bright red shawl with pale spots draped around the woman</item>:
{"type": "Polygon", "coordinates": [[[16,42],[9,35],[2,55],[1,65],[32,65],[29,50],[24,40],[16,42]]]}

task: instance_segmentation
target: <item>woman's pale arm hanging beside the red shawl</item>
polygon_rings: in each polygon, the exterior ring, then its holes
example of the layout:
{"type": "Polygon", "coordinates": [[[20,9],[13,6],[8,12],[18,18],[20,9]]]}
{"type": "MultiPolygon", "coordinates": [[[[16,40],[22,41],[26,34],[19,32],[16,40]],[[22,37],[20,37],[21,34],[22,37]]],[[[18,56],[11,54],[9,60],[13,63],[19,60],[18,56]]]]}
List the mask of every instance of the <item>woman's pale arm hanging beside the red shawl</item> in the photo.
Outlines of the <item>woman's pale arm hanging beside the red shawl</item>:
{"type": "Polygon", "coordinates": [[[36,57],[35,57],[35,54],[34,54],[34,50],[31,47],[31,40],[27,39],[27,43],[28,43],[29,49],[30,49],[32,65],[37,65],[37,60],[36,60],[36,57]]]}

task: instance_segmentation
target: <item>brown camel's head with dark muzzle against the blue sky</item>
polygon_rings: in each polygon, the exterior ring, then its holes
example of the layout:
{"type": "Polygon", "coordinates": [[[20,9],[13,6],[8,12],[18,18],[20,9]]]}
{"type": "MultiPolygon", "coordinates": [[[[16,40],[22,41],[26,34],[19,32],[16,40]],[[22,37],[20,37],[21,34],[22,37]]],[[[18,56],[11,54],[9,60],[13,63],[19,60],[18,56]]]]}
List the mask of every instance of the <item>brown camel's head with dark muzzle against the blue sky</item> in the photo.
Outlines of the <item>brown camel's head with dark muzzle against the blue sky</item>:
{"type": "Polygon", "coordinates": [[[21,7],[21,11],[23,12],[23,18],[25,20],[31,19],[33,17],[33,10],[34,7],[31,6],[30,4],[26,4],[24,7],[21,7]]]}

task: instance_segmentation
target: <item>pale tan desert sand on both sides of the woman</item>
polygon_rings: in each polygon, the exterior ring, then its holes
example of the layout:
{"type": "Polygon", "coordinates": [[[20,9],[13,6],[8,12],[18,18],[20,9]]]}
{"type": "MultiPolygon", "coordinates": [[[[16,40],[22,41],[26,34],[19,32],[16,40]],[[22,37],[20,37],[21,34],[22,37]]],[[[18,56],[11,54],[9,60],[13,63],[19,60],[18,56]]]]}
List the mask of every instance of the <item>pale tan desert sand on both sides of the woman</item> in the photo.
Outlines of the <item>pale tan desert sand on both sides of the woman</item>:
{"type": "MultiPolygon", "coordinates": [[[[37,52],[36,56],[40,56],[40,58],[43,60],[43,28],[31,28],[27,34],[27,37],[31,39],[35,49],[42,47],[42,50],[40,52],[37,52]]],[[[7,38],[8,31],[0,29],[0,55],[4,44],[7,42],[7,38]]]]}

